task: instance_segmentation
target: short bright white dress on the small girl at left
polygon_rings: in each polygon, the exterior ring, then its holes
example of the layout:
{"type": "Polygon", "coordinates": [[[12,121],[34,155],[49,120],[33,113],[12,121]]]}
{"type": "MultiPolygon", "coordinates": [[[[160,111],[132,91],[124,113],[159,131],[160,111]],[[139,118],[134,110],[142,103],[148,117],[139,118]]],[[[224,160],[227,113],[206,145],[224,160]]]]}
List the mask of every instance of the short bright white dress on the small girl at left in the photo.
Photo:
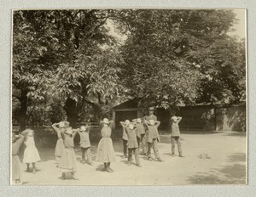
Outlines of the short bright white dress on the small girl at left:
{"type": "Polygon", "coordinates": [[[38,149],[35,146],[34,137],[27,137],[24,144],[26,145],[26,149],[24,150],[23,163],[35,163],[41,160],[38,154],[38,149]]]}

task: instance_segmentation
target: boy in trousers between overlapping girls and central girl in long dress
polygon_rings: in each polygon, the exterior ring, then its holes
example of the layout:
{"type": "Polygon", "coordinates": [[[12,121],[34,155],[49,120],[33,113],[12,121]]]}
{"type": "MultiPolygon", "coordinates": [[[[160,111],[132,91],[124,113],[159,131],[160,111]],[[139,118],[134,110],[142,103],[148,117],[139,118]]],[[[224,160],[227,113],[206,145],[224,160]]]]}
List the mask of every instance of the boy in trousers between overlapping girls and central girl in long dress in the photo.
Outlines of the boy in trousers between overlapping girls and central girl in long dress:
{"type": "Polygon", "coordinates": [[[90,126],[82,126],[79,130],[79,136],[80,136],[80,147],[82,152],[82,163],[85,163],[85,155],[87,157],[88,163],[91,166],[92,160],[90,156],[90,126]]]}

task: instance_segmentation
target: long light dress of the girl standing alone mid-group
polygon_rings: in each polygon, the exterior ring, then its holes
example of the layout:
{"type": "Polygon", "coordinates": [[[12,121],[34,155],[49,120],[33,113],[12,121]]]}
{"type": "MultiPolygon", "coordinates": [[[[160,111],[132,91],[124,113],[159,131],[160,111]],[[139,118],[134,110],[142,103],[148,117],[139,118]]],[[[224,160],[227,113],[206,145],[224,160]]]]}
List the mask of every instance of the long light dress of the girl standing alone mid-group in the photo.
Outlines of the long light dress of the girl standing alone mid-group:
{"type": "Polygon", "coordinates": [[[96,161],[108,163],[115,161],[115,155],[113,151],[113,142],[110,138],[111,128],[108,126],[102,127],[102,139],[98,144],[96,161]]]}

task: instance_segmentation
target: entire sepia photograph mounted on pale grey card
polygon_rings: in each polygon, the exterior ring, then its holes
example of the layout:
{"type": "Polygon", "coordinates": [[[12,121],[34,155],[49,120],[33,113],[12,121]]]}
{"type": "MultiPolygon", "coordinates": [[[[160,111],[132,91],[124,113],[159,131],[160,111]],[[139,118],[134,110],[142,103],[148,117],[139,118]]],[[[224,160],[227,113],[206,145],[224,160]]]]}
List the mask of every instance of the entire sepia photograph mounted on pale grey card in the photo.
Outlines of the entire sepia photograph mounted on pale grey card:
{"type": "Polygon", "coordinates": [[[14,9],[10,184],[247,184],[246,9],[14,9]]]}

